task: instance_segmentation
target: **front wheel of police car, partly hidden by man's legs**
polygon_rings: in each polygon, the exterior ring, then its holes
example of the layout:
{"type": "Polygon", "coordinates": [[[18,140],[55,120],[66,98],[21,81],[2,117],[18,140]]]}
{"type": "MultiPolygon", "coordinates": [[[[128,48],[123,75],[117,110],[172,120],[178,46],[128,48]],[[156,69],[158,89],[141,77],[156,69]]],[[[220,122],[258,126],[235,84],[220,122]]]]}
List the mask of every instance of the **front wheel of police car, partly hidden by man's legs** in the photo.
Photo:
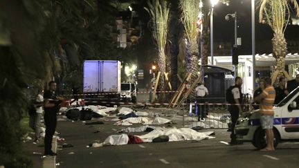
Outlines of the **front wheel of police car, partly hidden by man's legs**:
{"type": "MultiPolygon", "coordinates": [[[[276,129],[273,129],[273,132],[274,132],[274,148],[276,148],[278,146],[280,136],[278,131],[276,131],[276,129]]],[[[255,131],[252,144],[257,149],[263,149],[264,147],[266,147],[266,133],[262,128],[259,128],[257,129],[257,131],[255,131]]]]}

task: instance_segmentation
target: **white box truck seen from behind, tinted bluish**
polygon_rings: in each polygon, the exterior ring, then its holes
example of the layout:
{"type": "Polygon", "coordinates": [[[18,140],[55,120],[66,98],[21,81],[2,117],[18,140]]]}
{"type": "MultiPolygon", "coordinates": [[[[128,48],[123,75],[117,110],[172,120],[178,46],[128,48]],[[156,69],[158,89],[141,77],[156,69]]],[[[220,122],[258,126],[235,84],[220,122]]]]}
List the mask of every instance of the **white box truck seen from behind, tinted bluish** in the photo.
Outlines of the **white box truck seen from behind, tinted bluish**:
{"type": "Polygon", "coordinates": [[[120,62],[86,60],[83,66],[85,104],[118,105],[120,102],[120,62]]]}

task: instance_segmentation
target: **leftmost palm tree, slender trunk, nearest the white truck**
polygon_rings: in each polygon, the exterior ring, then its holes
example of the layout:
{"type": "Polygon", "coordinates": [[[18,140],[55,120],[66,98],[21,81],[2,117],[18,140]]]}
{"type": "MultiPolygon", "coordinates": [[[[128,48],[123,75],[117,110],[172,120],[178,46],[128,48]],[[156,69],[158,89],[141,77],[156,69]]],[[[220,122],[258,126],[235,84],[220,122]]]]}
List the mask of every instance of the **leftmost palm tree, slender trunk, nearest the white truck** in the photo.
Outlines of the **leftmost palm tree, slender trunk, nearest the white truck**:
{"type": "Polygon", "coordinates": [[[158,47],[158,70],[161,72],[160,89],[164,90],[164,77],[166,56],[165,45],[167,42],[167,28],[170,12],[170,3],[165,0],[149,0],[148,8],[145,8],[151,17],[149,24],[152,26],[152,36],[158,47]]]}

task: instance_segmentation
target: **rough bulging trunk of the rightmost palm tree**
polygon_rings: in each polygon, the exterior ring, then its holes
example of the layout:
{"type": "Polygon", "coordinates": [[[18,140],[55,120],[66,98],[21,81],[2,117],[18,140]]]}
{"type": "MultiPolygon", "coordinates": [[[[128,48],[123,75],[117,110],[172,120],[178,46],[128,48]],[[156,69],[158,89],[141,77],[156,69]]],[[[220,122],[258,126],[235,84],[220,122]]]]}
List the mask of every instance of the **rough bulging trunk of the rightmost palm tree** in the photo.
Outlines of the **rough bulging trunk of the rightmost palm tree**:
{"type": "Polygon", "coordinates": [[[284,38],[283,33],[274,33],[272,39],[273,44],[273,57],[276,59],[276,71],[278,71],[278,77],[283,76],[285,57],[287,55],[287,41],[284,38]]]}

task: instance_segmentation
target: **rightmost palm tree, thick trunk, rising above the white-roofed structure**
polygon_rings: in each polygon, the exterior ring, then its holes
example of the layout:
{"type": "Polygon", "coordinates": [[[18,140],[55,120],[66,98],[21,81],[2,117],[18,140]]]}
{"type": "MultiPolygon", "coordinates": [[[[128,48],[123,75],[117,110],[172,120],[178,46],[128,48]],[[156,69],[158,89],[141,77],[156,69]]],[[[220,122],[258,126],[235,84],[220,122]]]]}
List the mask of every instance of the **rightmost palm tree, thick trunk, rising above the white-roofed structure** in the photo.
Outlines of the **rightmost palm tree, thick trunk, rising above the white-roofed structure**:
{"type": "Polygon", "coordinates": [[[260,1],[260,22],[268,24],[274,34],[272,39],[273,57],[276,59],[275,75],[272,82],[277,76],[286,75],[284,70],[285,57],[287,55],[287,41],[284,38],[284,30],[286,30],[291,15],[291,7],[293,4],[296,15],[299,16],[299,6],[296,0],[261,0],[260,1]]]}

